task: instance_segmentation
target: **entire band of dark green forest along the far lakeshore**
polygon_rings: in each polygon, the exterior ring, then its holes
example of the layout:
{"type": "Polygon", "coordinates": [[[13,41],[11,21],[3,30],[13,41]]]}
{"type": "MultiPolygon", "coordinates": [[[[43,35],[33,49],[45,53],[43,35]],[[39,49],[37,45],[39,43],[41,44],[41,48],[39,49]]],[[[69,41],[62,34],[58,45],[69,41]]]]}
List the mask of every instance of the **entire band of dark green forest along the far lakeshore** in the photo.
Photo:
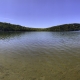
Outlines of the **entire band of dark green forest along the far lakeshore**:
{"type": "Polygon", "coordinates": [[[0,22],[0,31],[78,31],[80,24],[63,24],[49,28],[29,28],[25,26],[0,22]]]}

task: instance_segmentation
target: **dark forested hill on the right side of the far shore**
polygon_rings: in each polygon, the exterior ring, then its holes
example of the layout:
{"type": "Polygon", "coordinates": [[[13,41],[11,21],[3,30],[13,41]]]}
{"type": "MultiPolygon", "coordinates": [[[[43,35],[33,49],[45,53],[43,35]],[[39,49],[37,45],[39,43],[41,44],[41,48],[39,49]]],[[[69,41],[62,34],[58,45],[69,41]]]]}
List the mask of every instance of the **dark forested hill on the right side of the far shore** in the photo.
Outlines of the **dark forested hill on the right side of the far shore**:
{"type": "Polygon", "coordinates": [[[78,31],[80,30],[80,24],[73,23],[73,24],[63,24],[58,26],[53,26],[47,28],[49,31],[78,31]]]}

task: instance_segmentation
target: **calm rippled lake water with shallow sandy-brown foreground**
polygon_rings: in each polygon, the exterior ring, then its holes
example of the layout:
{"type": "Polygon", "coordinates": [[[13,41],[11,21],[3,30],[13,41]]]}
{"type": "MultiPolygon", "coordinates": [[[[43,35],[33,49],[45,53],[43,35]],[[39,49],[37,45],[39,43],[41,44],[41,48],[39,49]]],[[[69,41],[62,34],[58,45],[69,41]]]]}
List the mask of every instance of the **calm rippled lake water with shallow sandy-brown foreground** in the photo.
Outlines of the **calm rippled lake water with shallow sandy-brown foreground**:
{"type": "Polygon", "coordinates": [[[80,80],[80,31],[0,32],[0,80],[80,80]]]}

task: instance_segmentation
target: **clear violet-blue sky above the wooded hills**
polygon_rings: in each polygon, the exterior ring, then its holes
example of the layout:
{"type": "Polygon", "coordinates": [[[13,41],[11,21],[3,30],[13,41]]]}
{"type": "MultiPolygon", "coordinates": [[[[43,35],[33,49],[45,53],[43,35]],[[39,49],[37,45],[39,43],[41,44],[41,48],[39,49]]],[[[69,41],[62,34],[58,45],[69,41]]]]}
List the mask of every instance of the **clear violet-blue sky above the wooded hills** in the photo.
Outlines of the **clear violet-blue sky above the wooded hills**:
{"type": "Polygon", "coordinates": [[[33,28],[80,23],[80,0],[0,0],[0,22],[33,28]]]}

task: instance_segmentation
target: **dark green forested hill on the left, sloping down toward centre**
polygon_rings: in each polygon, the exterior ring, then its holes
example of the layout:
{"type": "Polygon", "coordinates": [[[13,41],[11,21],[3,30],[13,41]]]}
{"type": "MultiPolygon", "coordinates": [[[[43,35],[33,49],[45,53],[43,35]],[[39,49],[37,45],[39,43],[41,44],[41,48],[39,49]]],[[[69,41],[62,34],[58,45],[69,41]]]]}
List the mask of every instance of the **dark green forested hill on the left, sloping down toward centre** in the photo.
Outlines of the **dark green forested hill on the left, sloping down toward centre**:
{"type": "Polygon", "coordinates": [[[0,31],[39,31],[40,28],[29,28],[20,25],[0,22],[0,31]]]}

